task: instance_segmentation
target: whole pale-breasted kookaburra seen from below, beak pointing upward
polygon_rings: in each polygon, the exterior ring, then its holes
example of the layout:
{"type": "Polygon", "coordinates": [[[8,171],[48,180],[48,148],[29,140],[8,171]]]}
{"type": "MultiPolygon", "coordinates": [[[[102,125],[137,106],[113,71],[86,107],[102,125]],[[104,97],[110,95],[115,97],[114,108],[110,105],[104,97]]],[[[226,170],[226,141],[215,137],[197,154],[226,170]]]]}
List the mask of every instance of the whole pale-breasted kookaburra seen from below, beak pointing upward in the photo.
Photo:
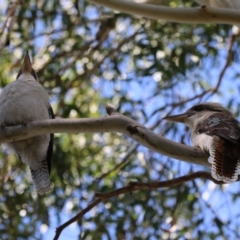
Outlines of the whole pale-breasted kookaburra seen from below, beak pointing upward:
{"type": "MultiPolygon", "coordinates": [[[[14,126],[35,120],[54,118],[48,95],[32,69],[28,52],[16,81],[3,88],[0,95],[0,125],[14,126]]],[[[33,183],[39,194],[50,190],[53,134],[7,143],[30,167],[33,183]]]]}

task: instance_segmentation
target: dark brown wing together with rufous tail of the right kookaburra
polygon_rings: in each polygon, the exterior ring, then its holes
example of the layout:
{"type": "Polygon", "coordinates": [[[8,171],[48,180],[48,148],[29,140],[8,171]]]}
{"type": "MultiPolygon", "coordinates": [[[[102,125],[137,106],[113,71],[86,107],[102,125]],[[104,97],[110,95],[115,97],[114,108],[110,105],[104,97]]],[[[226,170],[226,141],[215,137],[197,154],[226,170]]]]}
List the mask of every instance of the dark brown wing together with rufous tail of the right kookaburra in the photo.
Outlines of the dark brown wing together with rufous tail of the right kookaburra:
{"type": "Polygon", "coordinates": [[[208,159],[213,178],[226,183],[236,181],[240,173],[239,122],[231,115],[218,112],[200,122],[196,132],[213,137],[208,159]]]}

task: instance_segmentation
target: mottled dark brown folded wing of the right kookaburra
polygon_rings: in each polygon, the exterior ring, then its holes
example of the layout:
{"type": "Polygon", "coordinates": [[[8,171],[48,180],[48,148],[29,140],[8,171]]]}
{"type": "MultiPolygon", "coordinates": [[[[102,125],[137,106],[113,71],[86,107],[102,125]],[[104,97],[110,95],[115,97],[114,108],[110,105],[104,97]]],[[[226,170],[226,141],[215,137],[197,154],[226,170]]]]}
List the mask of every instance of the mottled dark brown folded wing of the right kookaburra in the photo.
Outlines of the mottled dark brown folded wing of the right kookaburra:
{"type": "Polygon", "coordinates": [[[218,136],[232,143],[240,138],[240,124],[232,116],[224,113],[215,113],[200,122],[196,128],[197,133],[218,136]]]}

